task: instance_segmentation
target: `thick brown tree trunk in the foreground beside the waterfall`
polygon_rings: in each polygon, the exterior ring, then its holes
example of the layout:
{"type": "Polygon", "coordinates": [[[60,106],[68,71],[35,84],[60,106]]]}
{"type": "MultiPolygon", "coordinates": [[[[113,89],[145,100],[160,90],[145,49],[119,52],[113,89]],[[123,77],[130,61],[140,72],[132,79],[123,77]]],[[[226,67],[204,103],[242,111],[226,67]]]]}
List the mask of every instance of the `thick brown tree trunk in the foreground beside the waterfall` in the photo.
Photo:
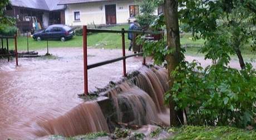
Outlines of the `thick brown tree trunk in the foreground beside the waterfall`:
{"type": "MultiPolygon", "coordinates": [[[[169,73],[169,86],[173,87],[174,79],[170,73],[178,66],[181,61],[181,50],[180,50],[180,31],[179,31],[179,17],[178,17],[178,0],[165,0],[164,2],[164,14],[166,21],[167,30],[167,42],[168,48],[173,50],[171,54],[166,56],[168,63],[169,73]]],[[[178,126],[184,122],[183,111],[175,111],[175,103],[173,98],[169,99],[170,106],[170,125],[178,126]]]]}

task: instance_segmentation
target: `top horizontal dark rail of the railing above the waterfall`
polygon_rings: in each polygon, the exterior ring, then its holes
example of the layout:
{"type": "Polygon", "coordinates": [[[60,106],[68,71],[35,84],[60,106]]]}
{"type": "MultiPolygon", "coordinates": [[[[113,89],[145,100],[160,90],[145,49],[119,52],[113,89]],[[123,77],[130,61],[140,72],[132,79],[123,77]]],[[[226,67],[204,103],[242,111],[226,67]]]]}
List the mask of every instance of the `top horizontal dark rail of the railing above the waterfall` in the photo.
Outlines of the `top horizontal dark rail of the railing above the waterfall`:
{"type": "Polygon", "coordinates": [[[125,31],[120,31],[120,30],[111,30],[111,29],[87,29],[87,32],[91,33],[136,33],[136,34],[160,34],[164,33],[163,31],[161,32],[149,32],[149,31],[135,31],[135,30],[125,30],[125,31]]]}

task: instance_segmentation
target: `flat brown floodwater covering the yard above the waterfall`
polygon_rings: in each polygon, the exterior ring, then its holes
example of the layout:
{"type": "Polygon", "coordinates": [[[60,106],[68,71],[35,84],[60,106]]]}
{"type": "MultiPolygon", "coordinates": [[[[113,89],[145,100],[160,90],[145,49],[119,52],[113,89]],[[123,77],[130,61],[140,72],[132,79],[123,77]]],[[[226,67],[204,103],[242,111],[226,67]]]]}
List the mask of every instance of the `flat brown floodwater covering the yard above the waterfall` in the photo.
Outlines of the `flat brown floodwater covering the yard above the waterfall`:
{"type": "MultiPolygon", "coordinates": [[[[18,67],[14,61],[1,60],[0,139],[37,138],[38,122],[69,115],[68,111],[83,102],[77,96],[83,92],[82,49],[52,48],[50,53],[57,57],[21,58],[18,67]]],[[[120,57],[122,52],[120,49],[88,49],[88,54],[88,64],[92,64],[120,57]]],[[[141,62],[141,57],[127,59],[127,72],[139,69],[141,62]]],[[[89,90],[94,91],[95,87],[104,87],[109,81],[120,78],[121,61],[90,69],[89,90]]]]}

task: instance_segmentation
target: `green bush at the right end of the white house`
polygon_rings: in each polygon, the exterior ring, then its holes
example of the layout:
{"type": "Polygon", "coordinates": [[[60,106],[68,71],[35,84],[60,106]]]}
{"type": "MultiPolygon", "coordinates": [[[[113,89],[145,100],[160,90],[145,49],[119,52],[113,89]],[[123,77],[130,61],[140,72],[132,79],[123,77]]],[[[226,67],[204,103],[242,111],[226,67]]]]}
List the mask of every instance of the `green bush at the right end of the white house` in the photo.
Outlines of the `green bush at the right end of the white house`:
{"type": "Polygon", "coordinates": [[[154,15],[155,9],[157,8],[157,0],[142,0],[137,1],[140,6],[140,14],[136,16],[136,19],[140,26],[147,30],[156,16],[154,15]]]}

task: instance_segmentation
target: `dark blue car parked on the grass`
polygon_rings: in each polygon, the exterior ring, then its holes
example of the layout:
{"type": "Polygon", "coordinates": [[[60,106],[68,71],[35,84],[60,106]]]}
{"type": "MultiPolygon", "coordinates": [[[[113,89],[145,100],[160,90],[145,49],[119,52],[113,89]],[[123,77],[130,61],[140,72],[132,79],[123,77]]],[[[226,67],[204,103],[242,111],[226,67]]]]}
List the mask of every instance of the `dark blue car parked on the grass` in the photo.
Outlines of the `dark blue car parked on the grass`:
{"type": "Polygon", "coordinates": [[[33,34],[33,39],[41,41],[42,39],[60,39],[66,41],[75,35],[74,29],[63,24],[54,24],[48,28],[33,34]]]}

